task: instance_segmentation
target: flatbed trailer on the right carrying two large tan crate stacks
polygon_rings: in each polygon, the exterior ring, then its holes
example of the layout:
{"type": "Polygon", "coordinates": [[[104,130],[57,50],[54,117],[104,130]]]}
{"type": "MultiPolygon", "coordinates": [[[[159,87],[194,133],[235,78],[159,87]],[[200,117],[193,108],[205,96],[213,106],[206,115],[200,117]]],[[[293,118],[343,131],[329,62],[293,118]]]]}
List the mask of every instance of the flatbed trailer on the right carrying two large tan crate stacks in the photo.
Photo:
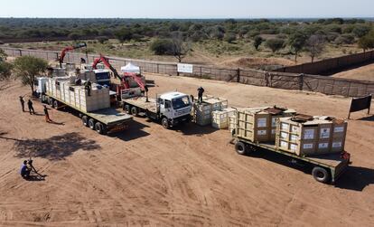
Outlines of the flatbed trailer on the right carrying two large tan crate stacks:
{"type": "Polygon", "coordinates": [[[248,139],[236,137],[236,135],[234,135],[233,137],[236,140],[235,149],[239,155],[249,155],[252,152],[260,151],[261,149],[275,152],[277,154],[291,158],[298,163],[312,166],[312,175],[314,179],[325,184],[335,183],[335,181],[351,164],[350,154],[346,152],[342,154],[296,156],[295,154],[278,149],[274,144],[255,143],[249,141],[248,139]]]}

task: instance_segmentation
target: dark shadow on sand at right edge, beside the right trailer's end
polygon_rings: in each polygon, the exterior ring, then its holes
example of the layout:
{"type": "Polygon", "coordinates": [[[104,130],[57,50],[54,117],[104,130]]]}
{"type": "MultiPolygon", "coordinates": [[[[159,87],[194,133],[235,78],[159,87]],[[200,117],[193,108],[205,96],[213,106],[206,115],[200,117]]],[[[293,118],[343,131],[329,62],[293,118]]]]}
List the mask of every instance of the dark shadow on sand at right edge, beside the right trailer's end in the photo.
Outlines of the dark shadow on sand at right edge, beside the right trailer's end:
{"type": "Polygon", "coordinates": [[[348,166],[345,173],[335,183],[335,187],[362,192],[369,184],[374,184],[374,169],[348,166]]]}

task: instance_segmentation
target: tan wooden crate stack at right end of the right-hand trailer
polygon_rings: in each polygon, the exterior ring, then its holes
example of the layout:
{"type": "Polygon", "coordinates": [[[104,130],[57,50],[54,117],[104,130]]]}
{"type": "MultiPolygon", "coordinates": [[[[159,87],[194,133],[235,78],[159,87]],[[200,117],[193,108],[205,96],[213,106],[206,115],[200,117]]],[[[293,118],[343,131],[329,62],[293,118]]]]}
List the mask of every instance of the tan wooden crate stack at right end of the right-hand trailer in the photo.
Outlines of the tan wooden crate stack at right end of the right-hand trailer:
{"type": "Polygon", "coordinates": [[[313,156],[344,151],[347,121],[340,118],[279,118],[276,147],[297,156],[313,156]]]}

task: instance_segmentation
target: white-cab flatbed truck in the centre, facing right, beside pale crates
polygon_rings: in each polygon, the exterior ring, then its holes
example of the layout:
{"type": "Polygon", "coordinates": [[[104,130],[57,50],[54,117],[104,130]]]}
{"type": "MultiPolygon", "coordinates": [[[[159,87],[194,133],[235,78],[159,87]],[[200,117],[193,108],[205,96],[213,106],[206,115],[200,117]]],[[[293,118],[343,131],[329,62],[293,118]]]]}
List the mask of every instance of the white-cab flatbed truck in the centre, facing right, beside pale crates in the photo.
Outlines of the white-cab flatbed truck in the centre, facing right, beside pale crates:
{"type": "Polygon", "coordinates": [[[192,100],[190,96],[178,91],[156,95],[155,99],[148,99],[147,96],[123,98],[122,102],[126,113],[145,115],[160,121],[164,128],[173,128],[192,119],[192,100]]]}

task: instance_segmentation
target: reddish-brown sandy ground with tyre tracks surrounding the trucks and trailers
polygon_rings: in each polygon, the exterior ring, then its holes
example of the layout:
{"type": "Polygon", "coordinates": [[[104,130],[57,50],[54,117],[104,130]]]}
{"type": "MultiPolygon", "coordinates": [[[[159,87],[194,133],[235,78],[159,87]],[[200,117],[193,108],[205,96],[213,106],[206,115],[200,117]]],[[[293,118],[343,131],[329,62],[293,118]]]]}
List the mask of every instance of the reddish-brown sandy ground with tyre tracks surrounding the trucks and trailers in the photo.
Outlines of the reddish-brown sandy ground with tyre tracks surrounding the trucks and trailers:
{"type": "MultiPolygon", "coordinates": [[[[152,95],[176,88],[228,98],[233,106],[278,104],[345,118],[350,99],[237,83],[148,76],[152,95]]],[[[18,83],[0,90],[0,225],[373,226],[374,118],[352,115],[352,166],[336,185],[271,154],[238,156],[227,130],[166,130],[145,118],[112,137],[51,110],[60,124],[20,110],[18,83]],[[30,154],[45,181],[18,174],[30,154]]],[[[42,112],[37,101],[35,109],[42,112]]]]}

